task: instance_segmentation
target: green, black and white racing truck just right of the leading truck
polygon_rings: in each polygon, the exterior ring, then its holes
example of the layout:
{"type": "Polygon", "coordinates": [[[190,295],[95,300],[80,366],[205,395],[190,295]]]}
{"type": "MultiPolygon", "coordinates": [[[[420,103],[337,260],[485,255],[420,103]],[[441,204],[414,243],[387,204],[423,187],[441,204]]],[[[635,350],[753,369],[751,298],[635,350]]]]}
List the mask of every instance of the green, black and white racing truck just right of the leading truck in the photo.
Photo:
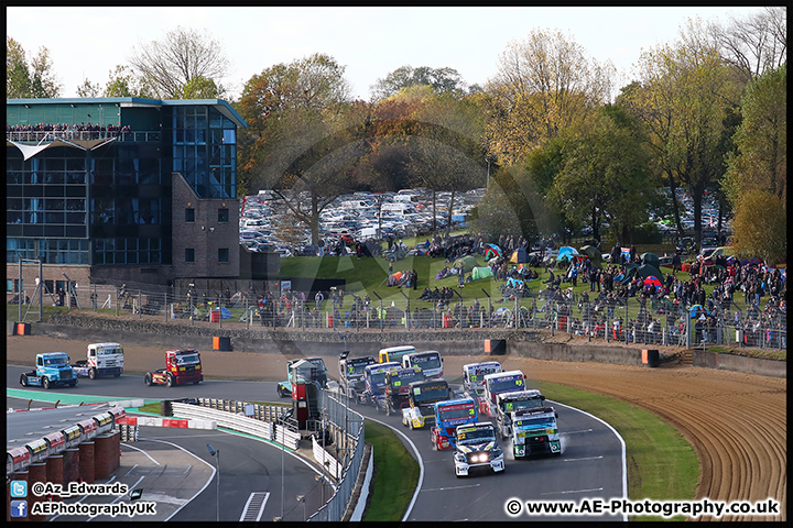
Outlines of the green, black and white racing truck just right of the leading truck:
{"type": "Polygon", "coordinates": [[[551,407],[512,413],[512,451],[515,459],[531,454],[562,454],[556,425],[557,415],[551,407]]]}

